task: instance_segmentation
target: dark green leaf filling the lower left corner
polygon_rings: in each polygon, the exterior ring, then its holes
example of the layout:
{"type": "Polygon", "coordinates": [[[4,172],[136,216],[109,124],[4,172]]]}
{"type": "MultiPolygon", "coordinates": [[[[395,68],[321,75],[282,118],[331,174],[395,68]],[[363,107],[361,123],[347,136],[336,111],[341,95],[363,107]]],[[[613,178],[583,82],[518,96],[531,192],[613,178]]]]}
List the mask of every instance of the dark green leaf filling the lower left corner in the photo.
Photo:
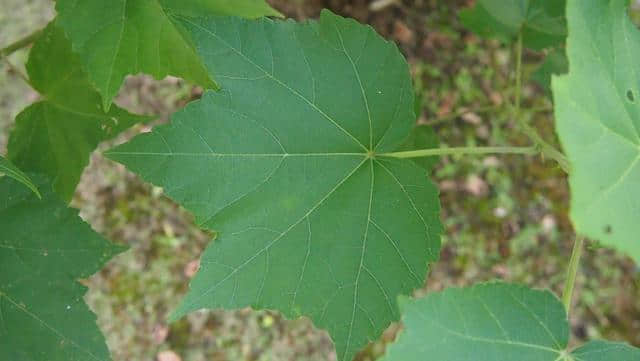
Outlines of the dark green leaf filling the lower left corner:
{"type": "Polygon", "coordinates": [[[91,230],[51,184],[34,179],[42,199],[0,178],[0,360],[109,360],[76,279],[122,248],[91,230]]]}

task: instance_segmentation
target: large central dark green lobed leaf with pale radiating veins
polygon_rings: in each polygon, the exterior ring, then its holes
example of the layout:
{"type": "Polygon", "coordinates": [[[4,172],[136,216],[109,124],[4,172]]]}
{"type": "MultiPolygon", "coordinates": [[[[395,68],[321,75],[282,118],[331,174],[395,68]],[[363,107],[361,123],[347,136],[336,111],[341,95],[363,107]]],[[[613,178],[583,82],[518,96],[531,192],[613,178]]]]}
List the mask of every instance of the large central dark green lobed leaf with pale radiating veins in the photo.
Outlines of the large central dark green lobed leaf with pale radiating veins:
{"type": "Polygon", "coordinates": [[[438,258],[436,187],[385,156],[415,122],[396,46],[318,22],[181,18],[223,92],[107,155],[218,232],[173,318],[251,306],[308,316],[341,360],[398,319],[438,258]]]}

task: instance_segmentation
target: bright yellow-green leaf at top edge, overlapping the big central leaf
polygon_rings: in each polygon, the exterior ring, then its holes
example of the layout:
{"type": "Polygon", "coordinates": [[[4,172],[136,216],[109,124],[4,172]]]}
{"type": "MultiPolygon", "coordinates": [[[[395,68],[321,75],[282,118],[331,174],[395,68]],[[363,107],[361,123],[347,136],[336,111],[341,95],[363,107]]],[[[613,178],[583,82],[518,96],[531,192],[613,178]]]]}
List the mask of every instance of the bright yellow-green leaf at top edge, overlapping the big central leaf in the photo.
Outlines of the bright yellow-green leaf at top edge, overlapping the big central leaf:
{"type": "Polygon", "coordinates": [[[56,10],[105,109],[128,74],[175,75],[215,87],[167,14],[279,15],[264,0],[58,0],[56,10]]]}

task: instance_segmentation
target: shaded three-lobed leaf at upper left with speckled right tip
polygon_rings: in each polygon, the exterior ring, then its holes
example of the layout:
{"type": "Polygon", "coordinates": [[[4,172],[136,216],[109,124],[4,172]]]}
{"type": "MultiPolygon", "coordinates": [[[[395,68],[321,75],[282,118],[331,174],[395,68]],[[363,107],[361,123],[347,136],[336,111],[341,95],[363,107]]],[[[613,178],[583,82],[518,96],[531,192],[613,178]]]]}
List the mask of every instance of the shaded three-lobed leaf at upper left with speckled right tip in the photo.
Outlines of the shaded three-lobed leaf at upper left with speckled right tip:
{"type": "Polygon", "coordinates": [[[26,172],[48,174],[70,200],[98,143],[147,117],[112,107],[103,112],[64,33],[54,23],[29,53],[27,71],[44,100],[23,110],[9,138],[8,157],[26,172]]]}

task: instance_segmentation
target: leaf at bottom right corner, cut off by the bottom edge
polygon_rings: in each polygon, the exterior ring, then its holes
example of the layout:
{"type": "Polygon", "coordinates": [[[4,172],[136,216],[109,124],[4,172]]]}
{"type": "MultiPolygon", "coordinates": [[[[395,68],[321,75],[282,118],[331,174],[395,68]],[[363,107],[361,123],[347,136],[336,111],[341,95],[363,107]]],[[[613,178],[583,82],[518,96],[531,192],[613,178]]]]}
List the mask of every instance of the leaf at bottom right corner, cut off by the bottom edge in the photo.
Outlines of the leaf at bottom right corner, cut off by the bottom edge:
{"type": "Polygon", "coordinates": [[[569,325],[550,291],[506,283],[449,288],[401,303],[404,329],[384,361],[636,361],[640,349],[593,341],[567,350],[569,325]]]}

